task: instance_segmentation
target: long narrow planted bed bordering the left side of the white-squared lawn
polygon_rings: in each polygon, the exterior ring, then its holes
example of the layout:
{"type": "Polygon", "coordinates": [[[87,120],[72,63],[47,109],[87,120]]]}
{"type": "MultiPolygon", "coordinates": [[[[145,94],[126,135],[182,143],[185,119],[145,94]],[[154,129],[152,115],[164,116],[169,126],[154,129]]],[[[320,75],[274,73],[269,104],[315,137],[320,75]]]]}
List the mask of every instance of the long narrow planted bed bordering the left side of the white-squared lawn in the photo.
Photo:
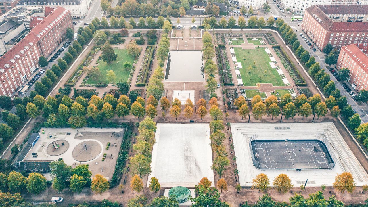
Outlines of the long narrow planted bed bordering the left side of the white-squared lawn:
{"type": "Polygon", "coordinates": [[[219,68],[220,81],[224,85],[234,85],[233,75],[231,74],[229,59],[227,58],[225,46],[216,48],[217,67],[219,68]]]}

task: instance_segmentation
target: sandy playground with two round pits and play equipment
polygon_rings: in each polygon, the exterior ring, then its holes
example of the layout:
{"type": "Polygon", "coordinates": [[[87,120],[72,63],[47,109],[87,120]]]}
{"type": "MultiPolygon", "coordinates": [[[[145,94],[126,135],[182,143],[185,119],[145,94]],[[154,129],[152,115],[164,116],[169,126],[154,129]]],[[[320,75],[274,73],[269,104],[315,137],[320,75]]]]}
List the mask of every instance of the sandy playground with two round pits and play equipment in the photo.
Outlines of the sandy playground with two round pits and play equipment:
{"type": "Polygon", "coordinates": [[[39,131],[39,140],[24,160],[63,158],[73,167],[88,164],[92,176],[101,174],[110,180],[114,173],[111,166],[116,164],[124,132],[122,128],[43,128],[39,131]]]}

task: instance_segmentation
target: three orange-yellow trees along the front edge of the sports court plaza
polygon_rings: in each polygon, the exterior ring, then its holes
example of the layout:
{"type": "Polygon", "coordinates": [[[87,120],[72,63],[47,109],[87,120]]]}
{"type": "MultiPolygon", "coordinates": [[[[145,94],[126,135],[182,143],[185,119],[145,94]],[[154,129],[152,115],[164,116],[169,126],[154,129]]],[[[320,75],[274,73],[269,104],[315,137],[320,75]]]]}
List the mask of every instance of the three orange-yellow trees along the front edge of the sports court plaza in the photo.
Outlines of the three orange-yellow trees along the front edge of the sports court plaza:
{"type": "MultiPolygon", "coordinates": [[[[287,176],[284,173],[280,173],[273,179],[272,185],[279,190],[280,193],[287,193],[292,187],[293,184],[291,183],[291,180],[289,176],[287,176]]],[[[252,180],[252,188],[259,189],[258,192],[266,192],[267,189],[270,187],[270,180],[268,176],[264,173],[258,174],[253,180],[252,180]]],[[[325,190],[326,185],[322,185],[322,191],[325,190]]],[[[344,193],[347,191],[348,193],[353,193],[355,189],[355,182],[353,175],[351,175],[350,172],[342,172],[340,174],[337,174],[335,176],[335,182],[333,183],[333,187],[337,190],[339,190],[341,193],[344,193]]],[[[368,188],[368,186],[364,186],[365,189],[368,188]]],[[[300,192],[304,189],[304,185],[300,186],[300,192]]]]}

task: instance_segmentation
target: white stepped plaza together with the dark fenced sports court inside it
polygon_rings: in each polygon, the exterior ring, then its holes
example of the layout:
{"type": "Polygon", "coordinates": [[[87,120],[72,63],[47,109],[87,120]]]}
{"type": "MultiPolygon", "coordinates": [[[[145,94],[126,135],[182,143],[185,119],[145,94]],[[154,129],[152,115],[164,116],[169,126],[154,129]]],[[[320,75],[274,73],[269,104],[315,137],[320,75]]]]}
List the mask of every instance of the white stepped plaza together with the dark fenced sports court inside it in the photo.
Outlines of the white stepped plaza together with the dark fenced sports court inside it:
{"type": "Polygon", "coordinates": [[[307,179],[307,186],[332,186],[335,176],[345,171],[357,186],[368,184],[368,174],[333,123],[235,123],[231,131],[241,186],[251,186],[259,173],[270,180],[286,173],[294,186],[307,179]],[[257,160],[261,164],[256,167],[257,160]]]}

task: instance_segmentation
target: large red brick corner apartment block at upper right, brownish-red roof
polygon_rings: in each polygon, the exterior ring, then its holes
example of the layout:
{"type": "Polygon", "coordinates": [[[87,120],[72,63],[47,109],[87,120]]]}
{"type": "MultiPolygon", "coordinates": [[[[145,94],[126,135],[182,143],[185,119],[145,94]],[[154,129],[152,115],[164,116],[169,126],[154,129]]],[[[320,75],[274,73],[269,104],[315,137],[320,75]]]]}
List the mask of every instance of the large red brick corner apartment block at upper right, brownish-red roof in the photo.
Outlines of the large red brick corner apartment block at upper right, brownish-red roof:
{"type": "Polygon", "coordinates": [[[330,43],[340,50],[367,46],[368,5],[313,5],[305,10],[302,31],[320,50],[330,43]]]}

